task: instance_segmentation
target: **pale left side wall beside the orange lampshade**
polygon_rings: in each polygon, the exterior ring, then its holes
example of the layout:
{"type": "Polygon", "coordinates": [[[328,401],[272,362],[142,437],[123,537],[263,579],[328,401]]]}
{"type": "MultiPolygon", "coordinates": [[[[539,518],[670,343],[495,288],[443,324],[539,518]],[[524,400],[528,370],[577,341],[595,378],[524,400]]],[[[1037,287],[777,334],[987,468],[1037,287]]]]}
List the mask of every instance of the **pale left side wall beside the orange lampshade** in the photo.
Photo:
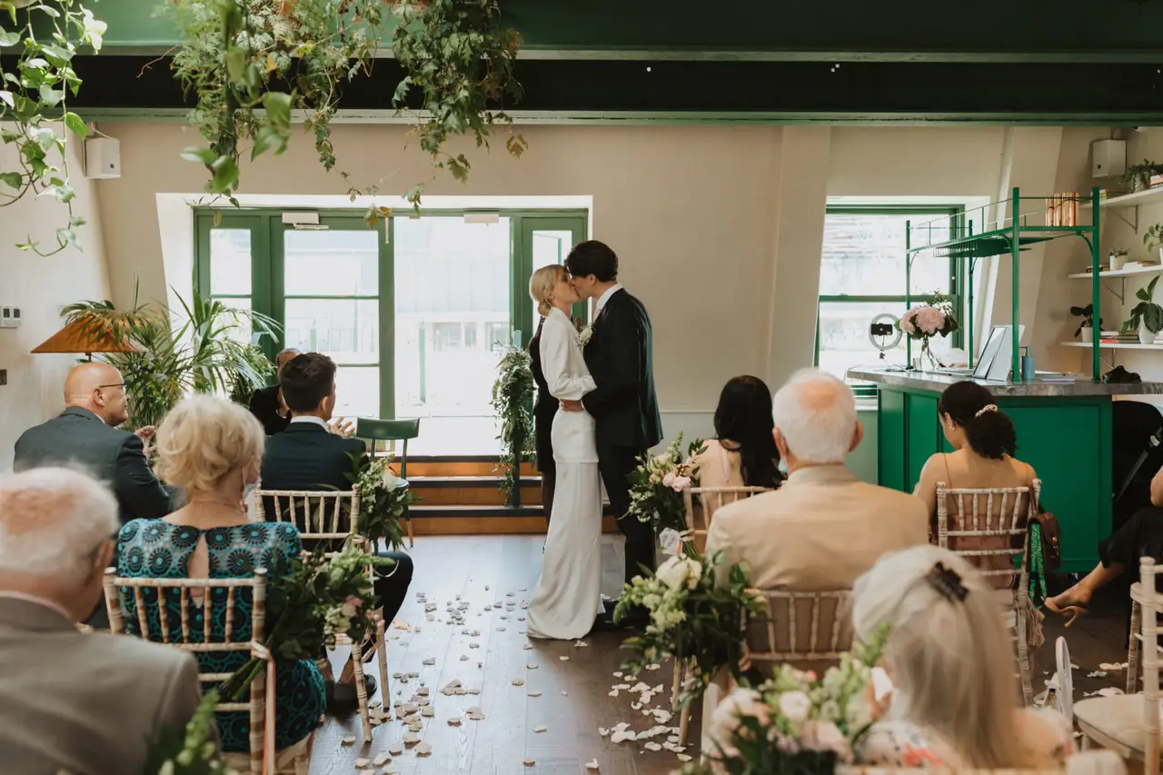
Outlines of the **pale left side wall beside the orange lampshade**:
{"type": "MultiPolygon", "coordinates": [[[[10,469],[13,445],[24,428],[62,410],[64,378],[77,357],[31,355],[29,350],[60,329],[58,313],[63,305],[108,296],[97,212],[102,183],[81,177],[78,143],[69,148],[73,151],[70,165],[77,190],[73,211],[88,219],[80,229],[84,251],[70,248],[43,258],[13,247],[27,234],[44,244],[56,244],[55,229],[67,221],[63,206],[26,195],[0,208],[0,305],[20,307],[23,318],[20,328],[0,328],[0,369],[8,370],[8,384],[0,386],[0,471],[10,469]]],[[[0,154],[9,150],[6,147],[0,154]]],[[[9,169],[9,158],[0,156],[0,169],[9,169]]]]}

